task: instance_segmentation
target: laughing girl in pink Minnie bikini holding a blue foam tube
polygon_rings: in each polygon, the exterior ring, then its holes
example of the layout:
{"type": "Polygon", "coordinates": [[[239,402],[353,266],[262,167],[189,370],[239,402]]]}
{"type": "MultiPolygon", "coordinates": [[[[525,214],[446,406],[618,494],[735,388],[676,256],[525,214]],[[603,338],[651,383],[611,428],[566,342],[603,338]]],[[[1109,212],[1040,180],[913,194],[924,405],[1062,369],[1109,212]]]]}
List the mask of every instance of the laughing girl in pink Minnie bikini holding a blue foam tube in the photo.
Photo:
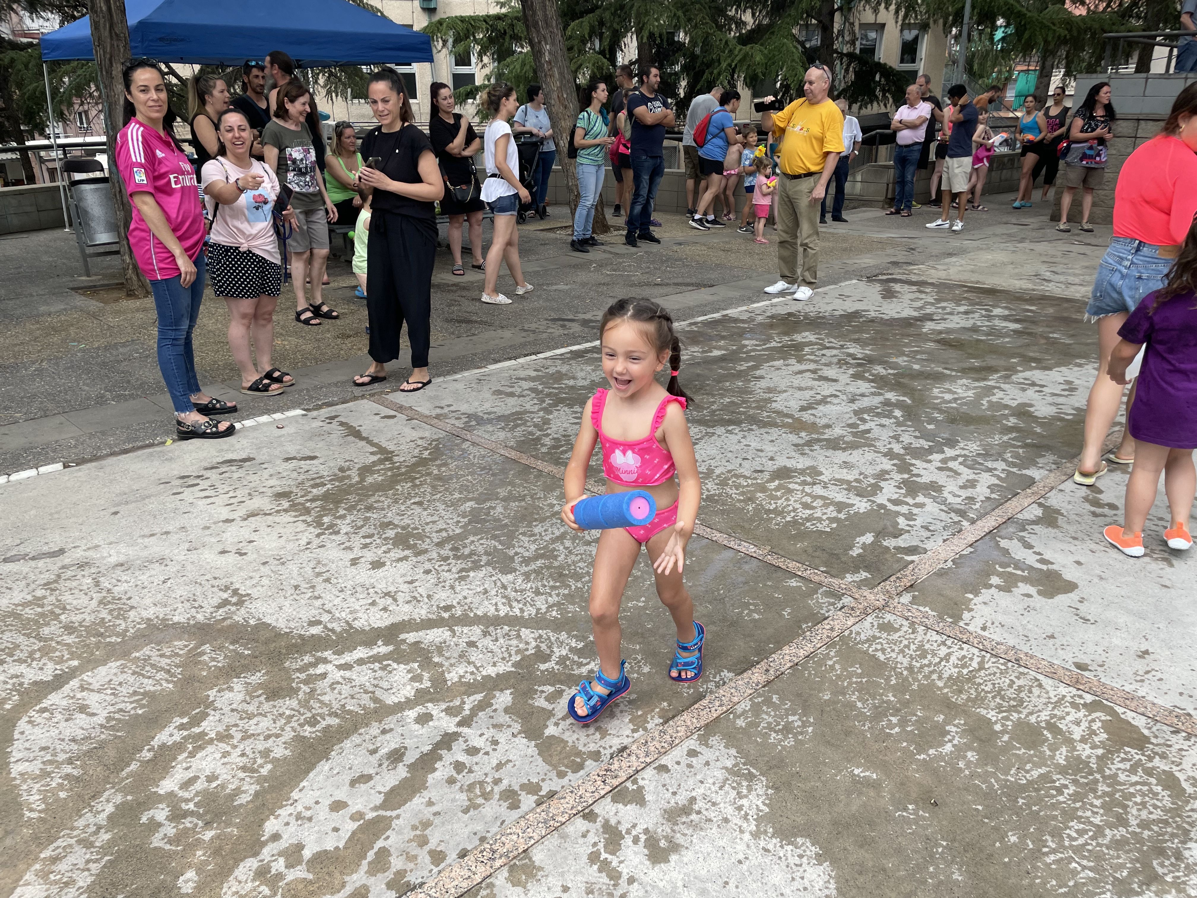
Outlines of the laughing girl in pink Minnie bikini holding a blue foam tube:
{"type": "Polygon", "coordinates": [[[602,372],[610,389],[587,400],[582,426],[565,468],[566,503],[561,518],[575,530],[573,505],[585,494],[587,469],[595,444],[602,445],[607,492],[646,490],[657,515],[642,527],[603,530],[590,583],[590,620],[598,672],[570,698],[570,716],[590,723],[632,686],[620,651],[619,606],[640,546],[648,546],[657,596],[673,615],[678,649],[669,665],[674,682],[703,675],[703,625],[682,583],[686,544],[694,533],[701,486],[686,426],[686,394],[678,386],[681,344],[669,313],[651,299],[620,299],[598,326],[602,372]],[[669,365],[669,384],[656,372],[669,365]]]}

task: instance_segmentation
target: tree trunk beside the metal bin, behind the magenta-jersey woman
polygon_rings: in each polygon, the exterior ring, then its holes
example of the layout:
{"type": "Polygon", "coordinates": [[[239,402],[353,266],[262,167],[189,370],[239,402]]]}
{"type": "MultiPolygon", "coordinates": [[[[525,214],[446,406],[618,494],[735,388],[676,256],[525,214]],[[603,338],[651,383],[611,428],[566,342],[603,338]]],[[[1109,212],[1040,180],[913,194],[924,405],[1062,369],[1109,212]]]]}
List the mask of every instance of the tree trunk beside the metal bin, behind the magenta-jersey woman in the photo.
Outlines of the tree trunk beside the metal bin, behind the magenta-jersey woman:
{"type": "Polygon", "coordinates": [[[124,83],[121,80],[123,60],[129,57],[129,25],[124,16],[124,0],[87,0],[91,16],[91,43],[96,50],[99,72],[99,92],[104,108],[104,134],[108,138],[108,181],[116,205],[116,230],[121,238],[121,268],[126,296],[148,296],[150,285],[138,268],[129,248],[129,223],[133,206],[116,170],[116,134],[122,127],[121,109],[124,104],[124,83]]]}

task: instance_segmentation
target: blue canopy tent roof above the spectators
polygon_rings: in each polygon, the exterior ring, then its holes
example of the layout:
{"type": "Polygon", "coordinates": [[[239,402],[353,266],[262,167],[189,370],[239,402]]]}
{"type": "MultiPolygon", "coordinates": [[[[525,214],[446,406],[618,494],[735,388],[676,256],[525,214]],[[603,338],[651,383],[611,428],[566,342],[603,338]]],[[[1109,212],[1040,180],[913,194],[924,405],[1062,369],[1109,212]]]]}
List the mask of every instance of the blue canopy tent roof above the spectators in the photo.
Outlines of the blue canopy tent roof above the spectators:
{"type": "MultiPolygon", "coordinates": [[[[432,40],[347,0],[126,0],[132,56],[237,66],[285,50],[300,66],[432,61],[432,40]]],[[[42,60],[95,59],[85,16],[42,36],[42,60]]]]}

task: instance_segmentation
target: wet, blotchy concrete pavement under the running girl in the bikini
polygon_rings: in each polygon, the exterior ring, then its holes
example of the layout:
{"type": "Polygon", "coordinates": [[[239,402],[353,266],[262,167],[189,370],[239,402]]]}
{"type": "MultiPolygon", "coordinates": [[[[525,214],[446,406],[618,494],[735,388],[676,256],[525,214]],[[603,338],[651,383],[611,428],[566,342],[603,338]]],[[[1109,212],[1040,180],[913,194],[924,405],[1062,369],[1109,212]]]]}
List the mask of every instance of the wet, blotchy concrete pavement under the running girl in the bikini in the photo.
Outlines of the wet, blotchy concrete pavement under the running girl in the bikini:
{"type": "Polygon", "coordinates": [[[593,347],[0,486],[0,894],[1197,893],[1193,559],[1062,483],[1100,247],[1029,251],[682,327],[707,673],[642,563],[593,729],[593,347]]]}

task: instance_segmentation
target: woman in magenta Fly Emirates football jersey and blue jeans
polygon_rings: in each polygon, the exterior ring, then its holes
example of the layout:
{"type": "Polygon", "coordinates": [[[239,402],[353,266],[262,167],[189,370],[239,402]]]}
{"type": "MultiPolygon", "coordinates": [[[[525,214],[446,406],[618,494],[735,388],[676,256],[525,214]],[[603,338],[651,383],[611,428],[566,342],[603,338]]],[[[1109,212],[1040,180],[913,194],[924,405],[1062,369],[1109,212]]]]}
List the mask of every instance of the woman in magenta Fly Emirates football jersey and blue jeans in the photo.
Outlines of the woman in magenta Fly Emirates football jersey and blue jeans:
{"type": "Polygon", "coordinates": [[[158,313],[158,368],[175,406],[177,439],[219,439],[233,433],[237,406],[200,389],[192,332],[203,298],[203,212],[195,169],[163,127],[166,83],[151,62],[124,67],[124,127],[116,135],[116,168],[133,200],[129,244],[150,281],[158,313]]]}

